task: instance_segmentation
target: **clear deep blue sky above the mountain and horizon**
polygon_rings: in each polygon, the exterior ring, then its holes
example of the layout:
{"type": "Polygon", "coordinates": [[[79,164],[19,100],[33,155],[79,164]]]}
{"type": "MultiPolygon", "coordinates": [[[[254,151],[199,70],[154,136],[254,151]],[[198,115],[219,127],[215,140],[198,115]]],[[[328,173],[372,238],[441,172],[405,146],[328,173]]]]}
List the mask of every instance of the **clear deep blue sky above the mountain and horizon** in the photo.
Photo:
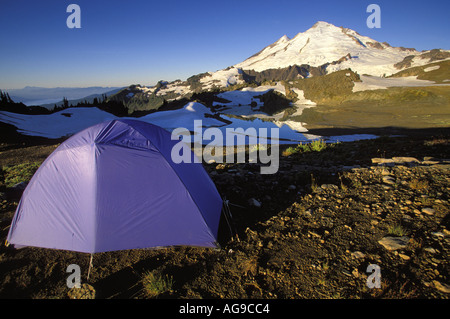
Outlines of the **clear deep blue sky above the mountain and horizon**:
{"type": "Polygon", "coordinates": [[[239,63],[317,21],[450,49],[448,0],[0,0],[0,88],[153,85],[239,63]],[[81,29],[69,29],[69,4],[81,29]],[[369,29],[369,4],[381,28],[369,29]]]}

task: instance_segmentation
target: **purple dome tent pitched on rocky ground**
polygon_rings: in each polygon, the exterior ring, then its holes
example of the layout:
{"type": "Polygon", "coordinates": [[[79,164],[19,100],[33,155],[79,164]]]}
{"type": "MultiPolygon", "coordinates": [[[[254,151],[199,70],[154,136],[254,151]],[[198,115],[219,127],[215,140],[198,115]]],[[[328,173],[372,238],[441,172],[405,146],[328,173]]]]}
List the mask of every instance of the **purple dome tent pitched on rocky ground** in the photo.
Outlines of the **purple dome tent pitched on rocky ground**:
{"type": "Polygon", "coordinates": [[[8,242],[86,253],[216,247],[223,201],[201,163],[171,160],[176,143],[138,120],[75,134],[34,174],[8,242]]]}

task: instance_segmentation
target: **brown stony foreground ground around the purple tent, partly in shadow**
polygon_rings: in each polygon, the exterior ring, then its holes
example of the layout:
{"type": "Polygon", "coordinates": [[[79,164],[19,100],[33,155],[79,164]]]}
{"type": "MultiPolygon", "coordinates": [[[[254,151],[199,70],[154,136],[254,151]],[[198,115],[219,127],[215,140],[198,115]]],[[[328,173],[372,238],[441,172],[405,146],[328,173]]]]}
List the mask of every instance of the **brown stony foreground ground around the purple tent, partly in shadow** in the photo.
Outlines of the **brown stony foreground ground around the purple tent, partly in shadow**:
{"type": "MultiPolygon", "coordinates": [[[[218,250],[95,254],[89,281],[86,254],[5,247],[18,198],[3,189],[0,297],[448,299],[449,143],[446,131],[339,143],[285,153],[273,175],[258,164],[205,164],[237,236],[222,221],[218,250]],[[67,287],[70,264],[83,289],[67,287]],[[150,294],[148,273],[170,285],[150,294]]],[[[2,144],[1,164],[42,160],[55,147],[47,144],[2,144]]]]}

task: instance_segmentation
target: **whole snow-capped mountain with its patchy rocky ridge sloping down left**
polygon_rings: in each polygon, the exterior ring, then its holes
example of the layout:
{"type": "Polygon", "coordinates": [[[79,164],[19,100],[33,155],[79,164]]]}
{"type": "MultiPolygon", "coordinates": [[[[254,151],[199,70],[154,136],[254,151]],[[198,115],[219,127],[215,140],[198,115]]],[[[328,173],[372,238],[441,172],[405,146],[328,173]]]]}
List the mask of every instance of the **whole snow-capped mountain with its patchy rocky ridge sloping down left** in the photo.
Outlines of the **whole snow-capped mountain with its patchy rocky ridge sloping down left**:
{"type": "MultiPolygon", "coordinates": [[[[361,75],[384,77],[413,66],[450,58],[450,51],[419,52],[392,47],[358,32],[319,21],[292,39],[282,36],[243,62],[226,69],[194,75],[186,81],[161,82],[153,88],[126,91],[125,102],[133,96],[173,101],[202,91],[245,84],[255,79],[293,80],[351,69],[361,75]],[[157,92],[157,93],[155,93],[157,92]],[[153,97],[152,97],[153,95],[153,97]]],[[[260,82],[256,80],[256,82],[260,82]]]]}

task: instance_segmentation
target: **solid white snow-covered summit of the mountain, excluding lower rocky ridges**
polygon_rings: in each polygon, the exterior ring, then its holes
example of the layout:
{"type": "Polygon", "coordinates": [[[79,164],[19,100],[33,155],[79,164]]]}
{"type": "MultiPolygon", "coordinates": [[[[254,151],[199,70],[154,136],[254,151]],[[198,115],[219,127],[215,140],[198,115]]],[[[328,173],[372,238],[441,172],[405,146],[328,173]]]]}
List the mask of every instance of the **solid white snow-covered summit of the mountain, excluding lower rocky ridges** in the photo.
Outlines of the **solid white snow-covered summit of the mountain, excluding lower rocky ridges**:
{"type": "Polygon", "coordinates": [[[351,68],[361,74],[380,76],[398,72],[394,64],[417,54],[419,52],[415,49],[391,47],[386,42],[380,43],[351,29],[320,21],[292,39],[281,37],[234,67],[263,71],[290,65],[318,67],[329,64],[327,73],[351,68]]]}

